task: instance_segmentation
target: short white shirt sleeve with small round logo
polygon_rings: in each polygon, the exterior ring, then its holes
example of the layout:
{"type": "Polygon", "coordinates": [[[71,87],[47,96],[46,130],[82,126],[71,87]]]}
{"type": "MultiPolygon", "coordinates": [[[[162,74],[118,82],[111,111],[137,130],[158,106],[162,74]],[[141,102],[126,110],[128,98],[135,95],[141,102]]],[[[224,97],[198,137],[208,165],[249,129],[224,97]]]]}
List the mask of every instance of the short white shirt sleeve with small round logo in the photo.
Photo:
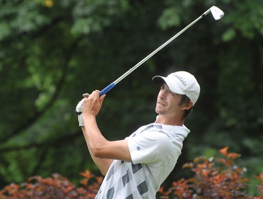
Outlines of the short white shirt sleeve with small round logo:
{"type": "Polygon", "coordinates": [[[146,131],[129,137],[128,146],[134,164],[163,162],[171,153],[171,141],[160,131],[146,131]]]}

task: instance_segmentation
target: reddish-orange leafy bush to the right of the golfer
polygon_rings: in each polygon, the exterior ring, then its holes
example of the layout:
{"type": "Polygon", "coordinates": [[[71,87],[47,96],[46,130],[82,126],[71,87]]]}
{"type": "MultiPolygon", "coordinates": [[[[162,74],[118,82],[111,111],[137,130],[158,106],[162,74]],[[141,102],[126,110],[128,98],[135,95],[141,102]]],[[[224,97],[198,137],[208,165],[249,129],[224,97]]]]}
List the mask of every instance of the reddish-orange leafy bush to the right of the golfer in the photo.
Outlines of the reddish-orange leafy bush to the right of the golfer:
{"type": "MultiPolygon", "coordinates": [[[[183,168],[190,168],[194,177],[180,179],[172,184],[168,191],[159,190],[162,198],[262,198],[246,195],[249,181],[243,176],[245,168],[234,165],[234,159],[240,155],[227,152],[228,147],[219,150],[222,157],[197,157],[193,162],[186,163],[183,168]]],[[[257,177],[261,180],[259,190],[263,190],[263,174],[257,177]]]]}

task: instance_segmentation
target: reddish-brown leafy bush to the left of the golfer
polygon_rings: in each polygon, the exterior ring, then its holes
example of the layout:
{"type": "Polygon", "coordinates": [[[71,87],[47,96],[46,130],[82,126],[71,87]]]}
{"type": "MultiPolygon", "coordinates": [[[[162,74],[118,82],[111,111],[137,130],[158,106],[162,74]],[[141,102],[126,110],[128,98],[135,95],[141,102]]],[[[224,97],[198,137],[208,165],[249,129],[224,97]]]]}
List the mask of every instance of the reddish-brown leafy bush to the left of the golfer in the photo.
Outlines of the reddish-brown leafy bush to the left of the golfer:
{"type": "Polygon", "coordinates": [[[80,174],[84,176],[84,179],[80,181],[83,185],[81,187],[76,187],[67,178],[56,173],[48,178],[33,176],[28,179],[28,182],[21,185],[12,183],[6,186],[0,191],[0,199],[95,198],[102,177],[95,177],[89,170],[80,174]]]}

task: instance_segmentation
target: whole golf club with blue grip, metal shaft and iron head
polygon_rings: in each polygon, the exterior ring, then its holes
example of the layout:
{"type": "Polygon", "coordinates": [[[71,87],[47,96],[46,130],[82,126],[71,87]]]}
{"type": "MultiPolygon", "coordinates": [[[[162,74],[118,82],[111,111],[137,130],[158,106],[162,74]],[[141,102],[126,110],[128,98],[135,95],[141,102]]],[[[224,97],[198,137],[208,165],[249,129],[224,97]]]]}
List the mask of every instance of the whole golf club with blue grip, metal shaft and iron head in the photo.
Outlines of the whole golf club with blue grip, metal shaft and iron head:
{"type": "Polygon", "coordinates": [[[127,72],[125,72],[123,75],[121,75],[118,79],[116,79],[111,84],[109,84],[107,87],[105,87],[103,90],[101,90],[100,91],[100,96],[105,94],[106,92],[108,92],[118,82],[120,82],[124,77],[126,77],[128,74],[130,74],[133,70],[135,70],[137,67],[139,67],[142,63],[144,63],[152,55],[154,55],[156,52],[158,52],[160,49],[162,49],[165,45],[170,43],[173,39],[175,39],[177,36],[179,36],[181,33],[183,33],[185,30],[187,30],[189,27],[191,27],[194,23],[196,23],[198,20],[200,20],[203,16],[207,15],[209,12],[212,13],[212,15],[213,15],[215,20],[218,20],[218,19],[220,19],[220,18],[222,18],[224,16],[224,12],[221,9],[219,9],[218,7],[216,7],[216,6],[210,7],[201,16],[196,18],[193,22],[191,22],[189,25],[187,25],[185,28],[183,28],[181,31],[179,31],[177,34],[175,34],[173,37],[171,37],[169,40],[167,40],[165,43],[163,43],[160,47],[155,49],[152,53],[150,53],[148,56],[146,56],[144,59],[142,59],[136,65],[134,65],[132,68],[130,68],[127,72]]]}

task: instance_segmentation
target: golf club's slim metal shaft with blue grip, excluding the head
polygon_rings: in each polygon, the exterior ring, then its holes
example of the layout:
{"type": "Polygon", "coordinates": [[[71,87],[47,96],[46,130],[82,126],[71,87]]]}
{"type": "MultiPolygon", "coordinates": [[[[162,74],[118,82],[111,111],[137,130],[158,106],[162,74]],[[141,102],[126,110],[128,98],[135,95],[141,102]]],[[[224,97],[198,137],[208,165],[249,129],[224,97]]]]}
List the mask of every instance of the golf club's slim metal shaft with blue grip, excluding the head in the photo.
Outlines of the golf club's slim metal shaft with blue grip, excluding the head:
{"type": "Polygon", "coordinates": [[[113,81],[111,84],[109,84],[107,87],[105,87],[103,90],[100,91],[100,95],[105,94],[108,92],[111,88],[113,88],[117,83],[119,83],[123,78],[128,76],[132,71],[134,71],[137,67],[139,67],[142,63],[144,63],[146,60],[148,60],[150,57],[152,57],[156,52],[158,52],[160,49],[162,49],[164,46],[166,46],[168,43],[170,43],[172,40],[174,40],[176,37],[178,37],[181,33],[183,33],[185,30],[187,30],[189,27],[191,27],[194,23],[196,23],[198,20],[200,20],[204,15],[208,14],[210,12],[210,9],[205,11],[201,16],[196,18],[194,21],[192,21],[189,25],[184,27],[181,31],[179,31],[177,34],[175,34],[173,37],[171,37],[169,40],[167,40],[165,43],[163,43],[161,46],[159,46],[157,49],[155,49],[153,52],[151,52],[148,56],[143,58],[140,62],[138,62],[136,65],[134,65],[132,68],[130,68],[127,72],[125,72],[123,75],[121,75],[118,79],[113,81]]]}

